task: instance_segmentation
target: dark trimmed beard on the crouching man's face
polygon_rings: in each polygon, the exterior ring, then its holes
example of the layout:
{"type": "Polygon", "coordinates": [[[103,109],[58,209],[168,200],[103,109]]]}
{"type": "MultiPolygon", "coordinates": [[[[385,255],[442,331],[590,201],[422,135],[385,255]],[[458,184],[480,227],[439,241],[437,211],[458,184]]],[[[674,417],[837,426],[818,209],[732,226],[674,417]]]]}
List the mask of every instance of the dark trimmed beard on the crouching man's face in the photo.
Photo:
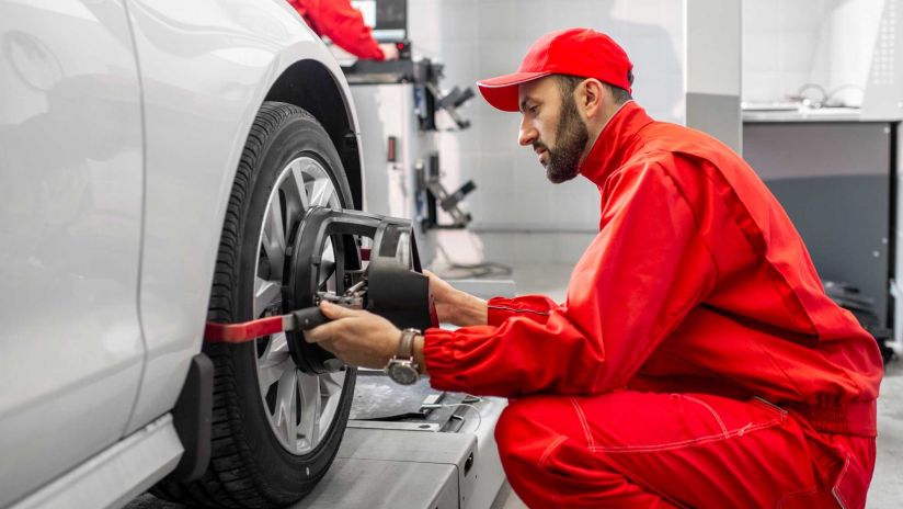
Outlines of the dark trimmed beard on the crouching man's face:
{"type": "MultiPolygon", "coordinates": [[[[549,151],[549,161],[546,163],[546,178],[553,184],[567,182],[580,172],[580,158],[590,140],[586,124],[576,111],[572,98],[562,102],[558,121],[558,134],[555,148],[542,146],[549,151]]],[[[536,148],[537,144],[534,144],[536,148]]]]}

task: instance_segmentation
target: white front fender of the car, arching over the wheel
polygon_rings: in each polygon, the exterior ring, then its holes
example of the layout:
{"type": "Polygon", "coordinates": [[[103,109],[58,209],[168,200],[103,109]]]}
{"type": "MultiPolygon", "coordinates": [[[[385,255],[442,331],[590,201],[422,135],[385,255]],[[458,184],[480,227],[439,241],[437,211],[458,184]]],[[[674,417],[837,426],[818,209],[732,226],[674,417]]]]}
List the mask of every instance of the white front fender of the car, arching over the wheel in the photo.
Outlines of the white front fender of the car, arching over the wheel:
{"type": "Polygon", "coordinates": [[[140,283],[147,365],[128,425],[135,430],[172,408],[201,350],[232,179],[270,88],[295,63],[317,60],[332,75],[322,86],[341,88],[344,114],[351,125],[356,121],[341,69],[284,0],[127,2],[147,144],[140,283]]]}

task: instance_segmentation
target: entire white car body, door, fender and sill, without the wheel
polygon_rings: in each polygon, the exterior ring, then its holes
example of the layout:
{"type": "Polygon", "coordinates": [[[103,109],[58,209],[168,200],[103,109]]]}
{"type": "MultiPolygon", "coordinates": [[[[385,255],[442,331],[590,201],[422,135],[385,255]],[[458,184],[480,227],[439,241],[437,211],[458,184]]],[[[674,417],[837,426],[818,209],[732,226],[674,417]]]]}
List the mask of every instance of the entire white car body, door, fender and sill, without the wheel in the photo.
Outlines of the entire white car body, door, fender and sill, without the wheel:
{"type": "Polygon", "coordinates": [[[103,506],[176,461],[171,425],[155,457],[128,444],[201,350],[261,104],[316,63],[359,159],[354,106],[284,0],[0,0],[0,507],[103,506]]]}

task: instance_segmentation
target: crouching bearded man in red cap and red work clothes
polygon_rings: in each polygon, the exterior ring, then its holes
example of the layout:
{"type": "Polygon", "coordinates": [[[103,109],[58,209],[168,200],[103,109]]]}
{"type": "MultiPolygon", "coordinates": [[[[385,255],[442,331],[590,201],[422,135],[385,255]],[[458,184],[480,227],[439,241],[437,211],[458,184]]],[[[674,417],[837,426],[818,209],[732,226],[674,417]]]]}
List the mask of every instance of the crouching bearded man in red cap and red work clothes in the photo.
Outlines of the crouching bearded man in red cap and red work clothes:
{"type": "MultiPolygon", "coordinates": [[[[443,321],[415,338],[434,387],[514,398],[495,430],[530,507],[861,508],[875,464],[875,340],[825,295],[763,182],[715,138],[655,122],[630,64],[591,30],[540,38],[481,81],[521,111],[552,182],[601,193],[568,299],[489,303],[433,280],[443,321]]],[[[385,365],[399,330],[324,306],[313,329],[385,365]]]]}

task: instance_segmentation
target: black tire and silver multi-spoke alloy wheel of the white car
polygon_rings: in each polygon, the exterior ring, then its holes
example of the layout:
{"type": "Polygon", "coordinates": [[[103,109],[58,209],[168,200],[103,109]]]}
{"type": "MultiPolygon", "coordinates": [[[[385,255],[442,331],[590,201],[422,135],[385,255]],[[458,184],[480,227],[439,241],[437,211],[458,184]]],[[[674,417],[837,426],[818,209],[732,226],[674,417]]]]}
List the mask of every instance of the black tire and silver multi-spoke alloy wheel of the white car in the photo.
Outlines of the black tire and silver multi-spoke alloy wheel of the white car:
{"type": "MultiPolygon", "coordinates": [[[[318,195],[318,200],[325,200],[325,203],[319,204],[353,207],[341,159],[319,122],[296,105],[264,103],[248,137],[229,199],[210,293],[208,320],[236,323],[286,312],[282,308],[281,292],[285,292],[288,286],[285,280],[287,276],[267,272],[278,271],[277,263],[270,261],[277,253],[270,257],[270,251],[266,250],[267,227],[275,217],[267,214],[274,214],[273,211],[282,213],[285,223],[283,245],[288,244],[292,230],[289,223],[294,220],[293,217],[300,217],[300,214],[298,205],[290,206],[288,199],[284,196],[286,179],[294,179],[294,184],[289,182],[285,188],[289,193],[292,189],[300,189],[301,194],[310,190],[307,205],[312,205],[313,189],[317,185],[329,188],[330,182],[323,176],[331,181],[334,195],[328,199],[318,195]],[[298,166],[301,169],[292,166],[297,161],[308,165],[307,170],[301,166],[298,166]],[[313,177],[304,171],[309,171],[313,177]],[[273,205],[274,200],[283,199],[285,203],[273,205]],[[260,303],[255,301],[259,287],[279,282],[279,296],[274,297],[272,305],[265,309],[259,308],[260,303]]],[[[215,364],[209,466],[197,480],[164,480],[158,484],[153,489],[155,495],[190,506],[279,507],[304,497],[323,477],[335,457],[347,423],[355,371],[347,367],[340,374],[306,375],[297,371],[288,355],[288,349],[281,343],[278,348],[283,351],[277,353],[285,354],[285,362],[292,363],[292,367],[275,383],[278,385],[276,397],[282,398],[281,404],[289,406],[296,400],[296,396],[284,396],[284,387],[281,385],[284,377],[293,376],[290,370],[294,369],[295,376],[298,376],[294,384],[300,400],[297,416],[293,416],[290,411],[279,410],[272,405],[270,396],[274,385],[266,385],[270,381],[264,381],[270,372],[264,372],[261,360],[267,355],[268,348],[276,349],[276,339],[266,337],[240,344],[205,344],[204,352],[215,364]],[[323,414],[319,417],[316,410],[307,411],[307,406],[315,405],[311,400],[316,397],[305,403],[301,395],[305,391],[298,388],[311,387],[313,382],[308,378],[310,376],[315,376],[317,381],[316,387],[311,389],[312,394],[319,395],[323,406],[323,414]],[[302,408],[302,405],[307,406],[302,408]],[[325,406],[330,406],[331,420],[322,422],[328,417],[325,406]],[[301,414],[305,412],[312,415],[312,419],[320,418],[320,421],[313,423],[315,431],[307,433],[307,439],[298,438],[301,432],[296,430],[296,441],[293,442],[292,432],[286,437],[281,426],[290,429],[292,425],[286,422],[294,421],[300,429],[299,422],[305,422],[306,418],[301,414]],[[282,415],[282,420],[277,414],[282,415]],[[317,426],[321,426],[319,431],[317,426]]],[[[286,382],[286,392],[290,392],[290,385],[286,382]]],[[[320,407],[315,405],[313,408],[320,407]]]]}

